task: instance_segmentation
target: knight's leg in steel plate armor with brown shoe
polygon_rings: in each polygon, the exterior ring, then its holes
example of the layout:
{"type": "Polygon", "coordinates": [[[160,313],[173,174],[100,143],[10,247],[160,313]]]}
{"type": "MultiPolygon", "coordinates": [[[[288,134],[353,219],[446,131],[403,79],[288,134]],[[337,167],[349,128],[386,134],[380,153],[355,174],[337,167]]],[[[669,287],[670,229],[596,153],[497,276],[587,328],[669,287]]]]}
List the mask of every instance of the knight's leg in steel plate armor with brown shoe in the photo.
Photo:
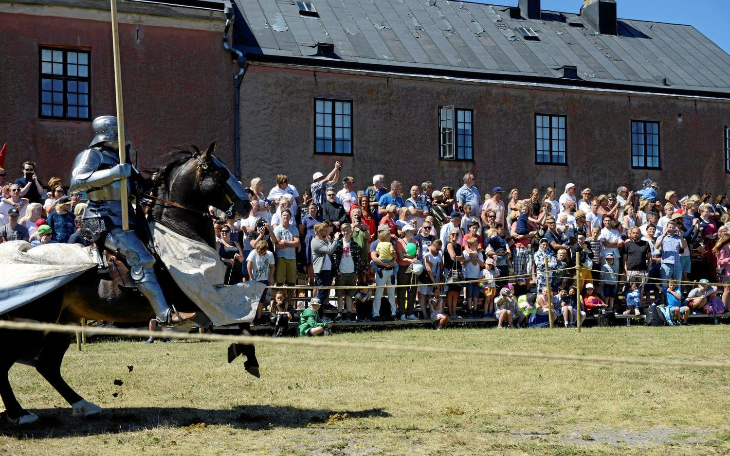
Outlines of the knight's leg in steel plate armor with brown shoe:
{"type": "Polygon", "coordinates": [[[118,255],[127,260],[130,267],[132,279],[137,281],[139,293],[150,301],[150,305],[155,311],[157,321],[162,325],[169,325],[176,322],[182,322],[192,318],[195,314],[179,314],[171,306],[168,306],[162,288],[155,275],[155,258],[150,254],[139,240],[134,231],[122,231],[120,228],[114,228],[107,235],[104,241],[104,247],[118,252],[118,255]],[[189,315],[189,316],[188,316],[189,315]]]}

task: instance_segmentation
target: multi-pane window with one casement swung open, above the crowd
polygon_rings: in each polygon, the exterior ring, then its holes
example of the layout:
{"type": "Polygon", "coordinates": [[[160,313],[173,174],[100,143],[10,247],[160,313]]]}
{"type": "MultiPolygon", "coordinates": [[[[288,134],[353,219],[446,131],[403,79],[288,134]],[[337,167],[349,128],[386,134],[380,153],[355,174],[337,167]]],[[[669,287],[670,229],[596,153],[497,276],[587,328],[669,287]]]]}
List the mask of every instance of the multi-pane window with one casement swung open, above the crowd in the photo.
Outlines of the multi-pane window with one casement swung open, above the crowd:
{"type": "Polygon", "coordinates": [[[473,117],[472,109],[439,108],[439,158],[472,160],[473,117]]]}

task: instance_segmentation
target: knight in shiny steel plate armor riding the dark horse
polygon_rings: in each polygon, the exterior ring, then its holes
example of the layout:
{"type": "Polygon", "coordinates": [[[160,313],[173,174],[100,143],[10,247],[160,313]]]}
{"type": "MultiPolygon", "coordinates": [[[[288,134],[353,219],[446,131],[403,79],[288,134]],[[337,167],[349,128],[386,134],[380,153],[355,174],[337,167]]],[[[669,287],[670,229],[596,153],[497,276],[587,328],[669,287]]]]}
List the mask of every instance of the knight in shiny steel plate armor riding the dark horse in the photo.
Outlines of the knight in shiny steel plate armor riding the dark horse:
{"type": "Polygon", "coordinates": [[[130,214],[134,209],[128,201],[121,201],[120,180],[127,179],[129,190],[130,178],[136,179],[139,173],[130,163],[119,163],[117,117],[96,117],[91,126],[96,136],[77,155],[71,172],[70,193],[86,192],[88,196],[82,232],[99,248],[126,259],[132,279],[150,301],[159,324],[174,325],[191,319],[194,313],[177,312],[167,304],[155,275],[155,258],[134,232],[134,217],[130,217],[130,229],[122,229],[122,204],[129,205],[130,214]]]}

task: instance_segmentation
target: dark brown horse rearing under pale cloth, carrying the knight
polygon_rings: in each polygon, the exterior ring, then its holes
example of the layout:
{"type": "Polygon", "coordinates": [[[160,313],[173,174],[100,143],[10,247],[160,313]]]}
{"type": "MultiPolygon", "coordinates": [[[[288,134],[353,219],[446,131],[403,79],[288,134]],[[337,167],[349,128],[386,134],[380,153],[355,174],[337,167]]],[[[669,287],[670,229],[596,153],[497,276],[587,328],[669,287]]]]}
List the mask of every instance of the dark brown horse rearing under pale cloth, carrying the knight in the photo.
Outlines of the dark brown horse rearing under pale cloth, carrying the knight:
{"type": "MultiPolygon", "coordinates": [[[[204,152],[194,147],[190,151],[178,150],[176,153],[181,155],[180,158],[156,169],[153,177],[146,182],[150,195],[154,197],[147,211],[148,220],[211,247],[215,247],[215,232],[207,217],[208,206],[237,217],[247,217],[251,208],[245,190],[215,157],[214,150],[215,142],[204,152]]],[[[144,239],[148,234],[145,216],[138,214],[135,217],[137,232],[144,239]]],[[[158,261],[155,268],[168,301],[181,312],[196,312],[197,306],[174,285],[161,262],[158,261]]],[[[136,288],[120,287],[93,269],[0,318],[69,323],[78,322],[81,317],[141,322],[153,316],[150,304],[136,288]]],[[[85,401],[61,377],[61,362],[70,341],[71,337],[61,333],[0,330],[0,395],[5,405],[4,414],[9,420],[19,424],[37,420],[35,414],[20,406],[10,387],[7,374],[15,363],[35,366],[39,374],[72,404],[74,414],[89,415],[101,410],[99,406],[85,401]]],[[[253,347],[246,347],[234,348],[234,355],[240,352],[251,355],[255,363],[253,347]]],[[[230,357],[229,354],[229,362],[230,357]]],[[[247,370],[251,371],[248,367],[247,370]]],[[[255,363],[255,374],[258,374],[258,363],[255,363]]]]}

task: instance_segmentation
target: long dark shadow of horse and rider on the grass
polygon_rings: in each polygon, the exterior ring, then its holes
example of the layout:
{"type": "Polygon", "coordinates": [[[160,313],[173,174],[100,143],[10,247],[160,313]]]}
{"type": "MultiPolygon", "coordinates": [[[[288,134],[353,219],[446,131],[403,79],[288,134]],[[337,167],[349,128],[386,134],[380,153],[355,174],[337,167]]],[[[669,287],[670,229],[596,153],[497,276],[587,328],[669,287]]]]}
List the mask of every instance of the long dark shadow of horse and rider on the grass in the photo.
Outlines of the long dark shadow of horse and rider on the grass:
{"type": "Polygon", "coordinates": [[[59,438],[124,433],[158,427],[197,430],[208,425],[231,425],[239,429],[302,428],[310,424],[353,418],[391,417],[383,409],[359,411],[300,409],[292,406],[251,405],[233,409],[193,407],[128,407],[104,409],[95,417],[74,417],[70,408],[31,409],[39,419],[31,425],[0,422],[0,435],[15,438],[59,438]],[[347,417],[343,415],[347,414],[347,417]]]}

